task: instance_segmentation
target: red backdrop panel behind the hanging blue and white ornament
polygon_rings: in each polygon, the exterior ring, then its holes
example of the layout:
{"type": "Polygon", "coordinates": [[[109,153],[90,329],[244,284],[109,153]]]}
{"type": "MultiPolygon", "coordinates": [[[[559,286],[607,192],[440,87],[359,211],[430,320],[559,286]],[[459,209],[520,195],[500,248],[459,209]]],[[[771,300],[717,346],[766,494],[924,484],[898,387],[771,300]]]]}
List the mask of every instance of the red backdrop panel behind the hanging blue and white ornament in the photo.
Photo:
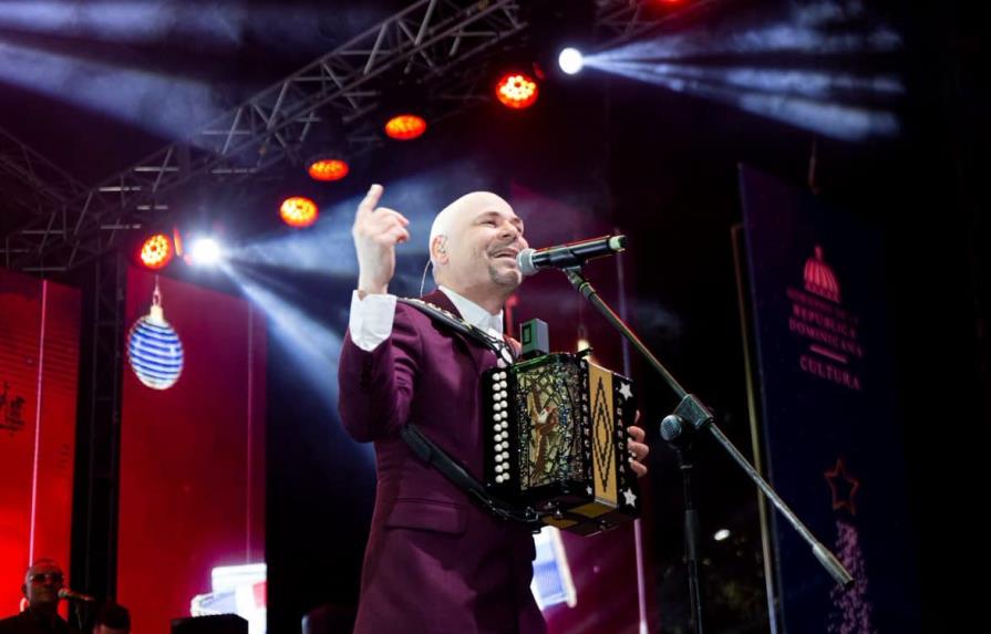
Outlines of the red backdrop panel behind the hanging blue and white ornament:
{"type": "MultiPolygon", "coordinates": [[[[128,329],[148,313],[155,279],[128,272],[128,329]]],[[[184,367],[164,391],[124,368],[117,551],[117,600],[151,634],[189,615],[213,568],[265,561],[264,321],[244,300],[158,284],[184,367]]]]}

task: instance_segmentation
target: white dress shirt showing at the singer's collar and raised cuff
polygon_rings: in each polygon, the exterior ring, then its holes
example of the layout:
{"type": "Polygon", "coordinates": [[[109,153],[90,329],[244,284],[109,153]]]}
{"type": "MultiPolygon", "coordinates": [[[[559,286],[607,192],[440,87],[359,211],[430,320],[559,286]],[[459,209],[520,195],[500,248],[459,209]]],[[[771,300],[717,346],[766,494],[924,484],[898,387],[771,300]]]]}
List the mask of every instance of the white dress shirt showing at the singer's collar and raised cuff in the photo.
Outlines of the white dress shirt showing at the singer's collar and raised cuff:
{"type": "MultiPolygon", "coordinates": [[[[469,324],[487,331],[496,339],[503,339],[503,311],[492,314],[472,300],[451,289],[437,287],[447,295],[457,312],[469,324]]],[[[365,352],[371,352],[392,334],[395,319],[395,295],[369,293],[361,299],[358,291],[351,293],[351,315],[348,329],[351,341],[365,352]]]]}

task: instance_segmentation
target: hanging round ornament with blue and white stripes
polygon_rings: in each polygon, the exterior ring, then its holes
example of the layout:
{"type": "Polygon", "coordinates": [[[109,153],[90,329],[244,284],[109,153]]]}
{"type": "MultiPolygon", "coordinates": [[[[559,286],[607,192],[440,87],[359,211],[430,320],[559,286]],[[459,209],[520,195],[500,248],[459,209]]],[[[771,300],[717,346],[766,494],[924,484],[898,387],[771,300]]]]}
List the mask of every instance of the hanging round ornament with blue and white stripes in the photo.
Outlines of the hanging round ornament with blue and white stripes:
{"type": "Polygon", "coordinates": [[[165,321],[157,279],[152,310],[127,332],[127,362],[137,380],[152,389],[168,389],[183,373],[183,342],[165,321]]]}

